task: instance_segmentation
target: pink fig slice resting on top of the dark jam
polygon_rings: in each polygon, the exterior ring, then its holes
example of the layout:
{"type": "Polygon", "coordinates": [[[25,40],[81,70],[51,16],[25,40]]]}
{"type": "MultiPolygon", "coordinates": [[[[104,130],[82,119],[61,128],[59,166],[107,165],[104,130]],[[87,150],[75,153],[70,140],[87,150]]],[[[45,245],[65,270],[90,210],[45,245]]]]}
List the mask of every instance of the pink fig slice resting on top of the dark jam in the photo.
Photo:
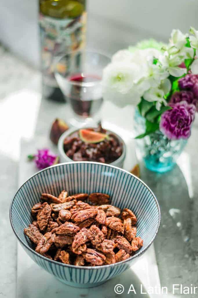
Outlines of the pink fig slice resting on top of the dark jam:
{"type": "Polygon", "coordinates": [[[99,143],[104,141],[104,139],[108,139],[107,134],[91,131],[90,129],[80,129],[79,136],[80,139],[85,143],[99,143]]]}

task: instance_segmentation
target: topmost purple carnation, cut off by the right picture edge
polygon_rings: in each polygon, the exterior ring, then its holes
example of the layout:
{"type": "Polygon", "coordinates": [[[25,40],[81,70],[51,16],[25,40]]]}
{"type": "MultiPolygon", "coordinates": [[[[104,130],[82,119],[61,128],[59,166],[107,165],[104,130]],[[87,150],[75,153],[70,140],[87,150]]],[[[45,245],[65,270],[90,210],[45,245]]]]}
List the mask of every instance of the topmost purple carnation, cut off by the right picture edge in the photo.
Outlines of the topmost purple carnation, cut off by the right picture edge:
{"type": "Polygon", "coordinates": [[[198,100],[198,75],[188,74],[178,81],[181,90],[192,91],[198,100]]]}

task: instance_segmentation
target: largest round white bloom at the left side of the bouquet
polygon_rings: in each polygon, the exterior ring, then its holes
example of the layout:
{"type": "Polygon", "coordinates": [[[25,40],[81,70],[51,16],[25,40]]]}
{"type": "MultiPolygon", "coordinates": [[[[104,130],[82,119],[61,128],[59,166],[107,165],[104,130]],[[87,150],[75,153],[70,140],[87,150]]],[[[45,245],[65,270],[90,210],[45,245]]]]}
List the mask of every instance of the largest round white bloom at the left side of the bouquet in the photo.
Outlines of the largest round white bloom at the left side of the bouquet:
{"type": "Polygon", "coordinates": [[[108,64],[102,77],[104,100],[110,100],[120,107],[137,105],[141,94],[134,82],[141,76],[141,68],[135,63],[123,61],[108,64]]]}

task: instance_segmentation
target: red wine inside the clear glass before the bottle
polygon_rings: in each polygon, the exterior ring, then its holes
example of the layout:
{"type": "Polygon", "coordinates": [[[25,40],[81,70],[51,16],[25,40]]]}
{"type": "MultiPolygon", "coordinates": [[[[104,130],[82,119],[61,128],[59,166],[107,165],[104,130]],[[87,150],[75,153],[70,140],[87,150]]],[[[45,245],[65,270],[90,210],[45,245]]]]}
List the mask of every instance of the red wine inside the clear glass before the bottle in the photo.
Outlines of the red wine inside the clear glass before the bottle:
{"type": "Polygon", "coordinates": [[[66,97],[73,111],[81,117],[92,117],[102,104],[101,77],[77,73],[66,78],[66,97]]]}

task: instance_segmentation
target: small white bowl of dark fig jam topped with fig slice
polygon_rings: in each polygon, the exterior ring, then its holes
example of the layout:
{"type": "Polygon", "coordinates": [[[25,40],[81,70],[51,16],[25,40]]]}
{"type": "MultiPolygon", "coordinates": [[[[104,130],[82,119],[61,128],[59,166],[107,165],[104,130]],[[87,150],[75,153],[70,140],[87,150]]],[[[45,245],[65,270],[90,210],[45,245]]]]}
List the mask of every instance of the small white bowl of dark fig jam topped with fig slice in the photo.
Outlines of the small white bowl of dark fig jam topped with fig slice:
{"type": "Polygon", "coordinates": [[[101,162],[120,168],[126,156],[123,139],[101,127],[65,131],[58,141],[58,150],[61,162],[101,162]]]}

